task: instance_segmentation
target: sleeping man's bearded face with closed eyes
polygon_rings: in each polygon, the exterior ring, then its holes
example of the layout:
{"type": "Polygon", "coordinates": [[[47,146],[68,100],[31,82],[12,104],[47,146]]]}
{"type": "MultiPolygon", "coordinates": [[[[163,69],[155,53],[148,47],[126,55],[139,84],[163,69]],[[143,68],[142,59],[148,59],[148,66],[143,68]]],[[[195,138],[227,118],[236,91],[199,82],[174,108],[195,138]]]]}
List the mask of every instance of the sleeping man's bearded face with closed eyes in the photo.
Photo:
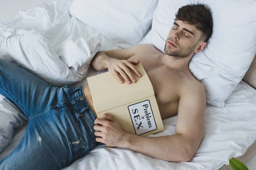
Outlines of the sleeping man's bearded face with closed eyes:
{"type": "Polygon", "coordinates": [[[183,58],[198,48],[201,31],[186,22],[176,20],[169,31],[164,51],[167,55],[183,58]]]}

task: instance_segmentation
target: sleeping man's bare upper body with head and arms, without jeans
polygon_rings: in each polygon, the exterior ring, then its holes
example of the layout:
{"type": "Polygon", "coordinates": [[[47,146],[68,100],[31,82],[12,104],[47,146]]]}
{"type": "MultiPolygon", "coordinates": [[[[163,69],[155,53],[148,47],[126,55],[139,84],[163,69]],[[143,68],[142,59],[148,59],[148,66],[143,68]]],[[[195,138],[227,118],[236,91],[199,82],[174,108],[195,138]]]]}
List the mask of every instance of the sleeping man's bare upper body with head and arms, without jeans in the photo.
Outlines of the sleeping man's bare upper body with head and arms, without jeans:
{"type": "MultiPolygon", "coordinates": [[[[176,14],[166,40],[166,54],[151,45],[143,44],[127,49],[100,51],[91,62],[97,71],[108,69],[122,83],[119,73],[128,84],[131,84],[131,80],[136,82],[130,69],[140,77],[132,64],[141,62],[153,85],[161,118],[177,115],[176,135],[156,138],[137,136],[125,133],[122,128],[106,120],[96,119],[95,124],[103,125],[94,126],[97,130],[95,135],[99,136],[96,141],[126,147],[166,161],[192,159],[204,136],[206,95],[204,86],[193,77],[188,65],[193,54],[205,48],[206,40],[212,34],[212,18],[204,6],[198,5],[197,9],[207,13],[201,14],[206,17],[206,23],[202,23],[205,24],[205,32],[196,28],[196,24],[186,22],[193,19],[196,23],[195,18],[187,19],[183,16],[185,11],[193,13],[192,8],[195,9],[195,6],[184,6],[176,14]]],[[[84,86],[84,93],[93,108],[88,86],[84,86]]],[[[113,120],[110,116],[105,118],[113,120]]]]}

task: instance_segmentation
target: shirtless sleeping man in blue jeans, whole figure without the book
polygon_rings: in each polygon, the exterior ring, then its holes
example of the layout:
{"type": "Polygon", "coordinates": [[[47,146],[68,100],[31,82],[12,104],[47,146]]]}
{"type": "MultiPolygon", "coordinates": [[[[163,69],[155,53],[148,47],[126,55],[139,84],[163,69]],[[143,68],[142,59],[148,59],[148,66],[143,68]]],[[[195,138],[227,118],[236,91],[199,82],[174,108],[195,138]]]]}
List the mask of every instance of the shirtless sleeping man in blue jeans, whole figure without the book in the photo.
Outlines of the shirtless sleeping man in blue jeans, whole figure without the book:
{"type": "Polygon", "coordinates": [[[100,144],[126,147],[166,161],[190,161],[204,136],[204,86],[189,71],[194,53],[212,35],[212,17],[203,5],[179,9],[163,54],[151,45],[100,51],[91,65],[108,69],[120,83],[136,83],[141,62],[154,88],[162,119],[177,115],[176,135],[144,137],[122,130],[111,115],[96,119],[88,85],[57,88],[0,59],[0,94],[26,115],[29,124],[2,170],[61,169],[100,144]],[[120,79],[120,74],[125,82],[120,79]],[[146,143],[146,145],[145,145],[146,143]]]}

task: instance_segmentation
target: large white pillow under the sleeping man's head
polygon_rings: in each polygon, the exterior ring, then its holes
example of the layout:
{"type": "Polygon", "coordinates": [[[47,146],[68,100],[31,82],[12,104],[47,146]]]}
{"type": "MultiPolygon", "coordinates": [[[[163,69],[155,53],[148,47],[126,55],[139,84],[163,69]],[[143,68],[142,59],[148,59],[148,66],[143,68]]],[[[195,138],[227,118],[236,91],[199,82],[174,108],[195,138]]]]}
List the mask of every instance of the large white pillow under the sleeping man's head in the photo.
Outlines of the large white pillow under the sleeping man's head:
{"type": "Polygon", "coordinates": [[[213,34],[206,48],[195,54],[189,69],[206,90],[207,103],[224,107],[244,77],[256,53],[255,0],[160,0],[145,42],[164,53],[178,8],[204,3],[212,12],[213,34]]]}

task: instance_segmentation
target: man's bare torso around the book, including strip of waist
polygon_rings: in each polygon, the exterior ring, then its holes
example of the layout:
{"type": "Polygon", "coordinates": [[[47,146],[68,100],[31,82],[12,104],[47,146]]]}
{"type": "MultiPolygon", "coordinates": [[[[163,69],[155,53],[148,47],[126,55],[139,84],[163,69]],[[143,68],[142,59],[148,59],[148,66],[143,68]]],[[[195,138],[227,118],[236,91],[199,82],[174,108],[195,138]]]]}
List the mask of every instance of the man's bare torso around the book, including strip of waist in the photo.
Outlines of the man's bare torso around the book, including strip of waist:
{"type": "MultiPolygon", "coordinates": [[[[184,84],[196,80],[190,72],[177,71],[161,64],[162,56],[163,53],[151,46],[147,51],[138,53],[128,60],[137,59],[142,63],[153,85],[161,118],[166,119],[177,115],[180,91],[184,84]]],[[[90,108],[97,117],[88,85],[84,85],[83,90],[90,108]]]]}

